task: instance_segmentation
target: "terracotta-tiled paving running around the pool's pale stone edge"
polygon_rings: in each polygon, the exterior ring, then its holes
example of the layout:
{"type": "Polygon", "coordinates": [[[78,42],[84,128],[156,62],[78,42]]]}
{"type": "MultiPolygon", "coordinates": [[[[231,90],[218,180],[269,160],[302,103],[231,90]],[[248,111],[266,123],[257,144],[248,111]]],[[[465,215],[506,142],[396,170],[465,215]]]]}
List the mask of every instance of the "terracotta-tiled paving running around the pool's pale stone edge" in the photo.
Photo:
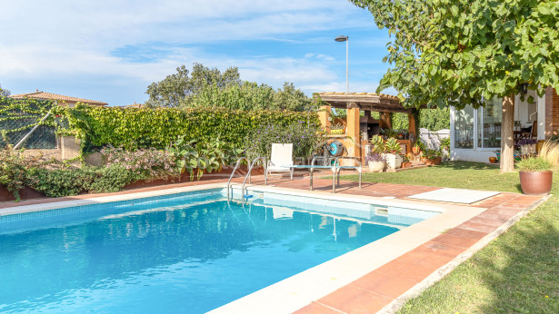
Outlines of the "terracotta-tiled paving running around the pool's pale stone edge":
{"type": "MultiPolygon", "coordinates": [[[[116,193],[85,194],[57,199],[20,201],[18,203],[4,202],[0,203],[0,211],[3,208],[21,205],[81,200],[139,191],[158,191],[216,182],[226,181],[219,179],[205,182],[185,182],[116,193]]],[[[242,179],[237,178],[234,182],[242,182],[242,179]]],[[[264,177],[254,177],[253,184],[264,184],[264,177]]],[[[309,188],[308,176],[297,176],[294,181],[289,180],[288,177],[274,177],[268,184],[290,189],[308,190],[309,188]]],[[[357,182],[342,181],[336,191],[344,194],[404,199],[417,193],[438,189],[441,188],[364,182],[363,189],[360,190],[357,182]]],[[[314,190],[331,191],[332,180],[314,179],[314,190]]],[[[444,268],[445,265],[459,257],[464,251],[471,250],[474,246],[480,249],[483,245],[478,242],[483,243],[493,239],[499,232],[504,231],[514,221],[518,220],[527,211],[534,209],[544,200],[545,198],[540,196],[504,192],[484,201],[470,204],[468,206],[486,208],[487,210],[384,264],[384,266],[370,272],[361,279],[355,280],[322,299],[315,300],[303,309],[298,310],[297,313],[372,313],[382,309],[391,309],[395,303],[402,302],[401,296],[404,293],[409,293],[410,289],[417,290],[422,286],[422,281],[437,270],[444,268]]]]}

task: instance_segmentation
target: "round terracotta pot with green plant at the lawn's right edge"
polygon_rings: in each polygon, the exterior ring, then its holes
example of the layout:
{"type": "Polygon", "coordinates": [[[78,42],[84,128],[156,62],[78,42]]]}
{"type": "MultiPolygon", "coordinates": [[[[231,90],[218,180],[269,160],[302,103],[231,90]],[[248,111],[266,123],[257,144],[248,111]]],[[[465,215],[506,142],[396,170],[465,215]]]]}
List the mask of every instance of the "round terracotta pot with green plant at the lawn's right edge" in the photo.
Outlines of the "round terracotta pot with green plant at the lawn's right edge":
{"type": "Polygon", "coordinates": [[[520,170],[520,187],[524,194],[549,194],[553,182],[552,167],[559,164],[559,143],[545,141],[538,156],[529,155],[516,166],[520,170]]]}

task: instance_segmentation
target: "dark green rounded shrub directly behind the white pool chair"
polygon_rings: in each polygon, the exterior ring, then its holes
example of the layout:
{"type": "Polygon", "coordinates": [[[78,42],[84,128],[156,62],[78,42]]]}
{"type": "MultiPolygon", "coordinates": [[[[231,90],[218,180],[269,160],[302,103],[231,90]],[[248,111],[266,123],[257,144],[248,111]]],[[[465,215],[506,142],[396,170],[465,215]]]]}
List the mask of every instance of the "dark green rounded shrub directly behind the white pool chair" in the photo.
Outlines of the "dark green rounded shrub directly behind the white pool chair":
{"type": "Polygon", "coordinates": [[[270,124],[249,132],[245,137],[245,154],[249,159],[270,158],[272,143],[293,143],[294,157],[309,158],[322,142],[316,124],[303,121],[287,126],[270,124]]]}

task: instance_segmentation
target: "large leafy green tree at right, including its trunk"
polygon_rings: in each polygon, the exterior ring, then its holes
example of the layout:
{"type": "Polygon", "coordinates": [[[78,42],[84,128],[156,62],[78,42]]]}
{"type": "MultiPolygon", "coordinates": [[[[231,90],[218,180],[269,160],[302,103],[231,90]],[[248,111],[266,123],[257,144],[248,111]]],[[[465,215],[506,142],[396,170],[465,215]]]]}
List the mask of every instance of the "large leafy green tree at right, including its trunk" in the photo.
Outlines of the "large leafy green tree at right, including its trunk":
{"type": "Polygon", "coordinates": [[[539,95],[559,90],[556,0],[350,0],[394,34],[394,68],[378,92],[394,86],[405,106],[484,105],[503,99],[501,171],[514,170],[514,95],[527,84],[539,95]],[[511,113],[511,114],[508,114],[511,113]]]}

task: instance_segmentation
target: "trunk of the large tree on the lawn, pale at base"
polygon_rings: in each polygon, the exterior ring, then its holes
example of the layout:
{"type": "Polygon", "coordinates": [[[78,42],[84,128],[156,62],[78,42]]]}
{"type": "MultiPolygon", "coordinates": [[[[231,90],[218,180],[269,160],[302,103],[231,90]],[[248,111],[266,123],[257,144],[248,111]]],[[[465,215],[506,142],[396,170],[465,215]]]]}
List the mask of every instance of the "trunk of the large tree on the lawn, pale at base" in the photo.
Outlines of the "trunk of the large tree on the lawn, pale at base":
{"type": "Polygon", "coordinates": [[[501,172],[514,172],[514,95],[503,98],[501,172]]]}

